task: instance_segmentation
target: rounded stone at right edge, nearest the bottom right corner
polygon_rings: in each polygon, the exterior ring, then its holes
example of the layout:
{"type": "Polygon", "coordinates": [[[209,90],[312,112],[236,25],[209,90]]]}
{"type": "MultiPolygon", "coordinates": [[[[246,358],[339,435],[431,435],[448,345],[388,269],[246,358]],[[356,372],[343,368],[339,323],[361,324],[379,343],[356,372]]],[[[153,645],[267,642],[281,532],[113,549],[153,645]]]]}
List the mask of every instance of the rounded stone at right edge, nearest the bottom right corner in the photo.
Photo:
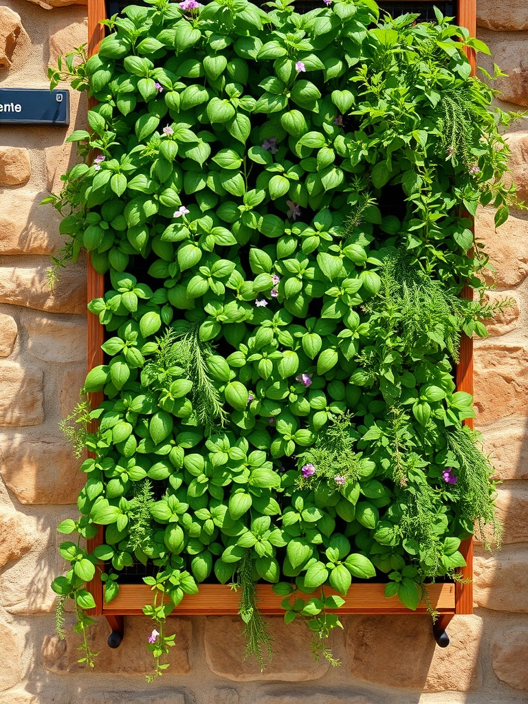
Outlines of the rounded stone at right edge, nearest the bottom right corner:
{"type": "Polygon", "coordinates": [[[493,668],[514,689],[528,689],[528,628],[504,629],[495,635],[493,668]]]}

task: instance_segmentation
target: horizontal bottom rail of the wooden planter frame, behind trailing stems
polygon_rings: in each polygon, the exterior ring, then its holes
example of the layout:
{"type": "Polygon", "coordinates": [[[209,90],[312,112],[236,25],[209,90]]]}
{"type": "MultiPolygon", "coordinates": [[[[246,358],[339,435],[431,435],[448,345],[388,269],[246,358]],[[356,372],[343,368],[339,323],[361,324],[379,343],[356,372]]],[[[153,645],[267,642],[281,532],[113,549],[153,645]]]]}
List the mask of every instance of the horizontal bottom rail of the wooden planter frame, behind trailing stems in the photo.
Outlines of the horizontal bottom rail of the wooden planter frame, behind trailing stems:
{"type": "MultiPolygon", "coordinates": [[[[427,608],[420,603],[416,611],[406,608],[398,597],[386,598],[384,584],[352,584],[348,589],[340,614],[424,614],[427,608]]],[[[455,614],[455,585],[431,584],[428,586],[432,607],[441,614],[455,614]]],[[[284,615],[281,607],[283,596],[272,591],[271,584],[258,584],[258,608],[265,615],[284,615]]],[[[325,594],[337,591],[325,587],[325,594]]],[[[310,595],[299,593],[303,598],[310,595]]],[[[319,596],[319,592],[312,596],[319,596]]],[[[142,614],[142,607],[151,603],[152,591],[146,584],[122,584],[111,603],[103,605],[103,616],[142,614]]],[[[187,594],[172,612],[174,616],[234,615],[239,612],[240,592],[229,584],[201,584],[199,594],[187,594]]]]}

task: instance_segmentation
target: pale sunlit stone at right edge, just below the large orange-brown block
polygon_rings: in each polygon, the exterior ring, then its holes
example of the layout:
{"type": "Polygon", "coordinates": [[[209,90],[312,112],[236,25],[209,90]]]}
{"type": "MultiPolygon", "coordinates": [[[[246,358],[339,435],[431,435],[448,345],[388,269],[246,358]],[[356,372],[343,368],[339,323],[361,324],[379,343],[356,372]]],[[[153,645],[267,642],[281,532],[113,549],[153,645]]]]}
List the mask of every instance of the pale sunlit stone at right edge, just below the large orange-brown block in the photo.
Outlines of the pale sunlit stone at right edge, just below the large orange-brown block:
{"type": "Polygon", "coordinates": [[[496,479],[528,479],[528,429],[510,418],[486,428],[484,447],[491,454],[496,479]]]}

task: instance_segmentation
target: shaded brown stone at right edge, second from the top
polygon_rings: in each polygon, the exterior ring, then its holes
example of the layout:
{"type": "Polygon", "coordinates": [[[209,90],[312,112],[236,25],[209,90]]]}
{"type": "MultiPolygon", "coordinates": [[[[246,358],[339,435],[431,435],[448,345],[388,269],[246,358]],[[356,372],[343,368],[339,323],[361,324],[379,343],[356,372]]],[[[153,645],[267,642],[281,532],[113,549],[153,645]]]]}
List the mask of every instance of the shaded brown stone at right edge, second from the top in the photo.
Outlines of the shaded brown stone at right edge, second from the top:
{"type": "MultiPolygon", "coordinates": [[[[527,13],[528,18],[528,13],[527,13]]],[[[494,61],[508,75],[498,78],[498,99],[515,105],[528,105],[528,59],[525,39],[508,39],[494,47],[494,61]]]]}

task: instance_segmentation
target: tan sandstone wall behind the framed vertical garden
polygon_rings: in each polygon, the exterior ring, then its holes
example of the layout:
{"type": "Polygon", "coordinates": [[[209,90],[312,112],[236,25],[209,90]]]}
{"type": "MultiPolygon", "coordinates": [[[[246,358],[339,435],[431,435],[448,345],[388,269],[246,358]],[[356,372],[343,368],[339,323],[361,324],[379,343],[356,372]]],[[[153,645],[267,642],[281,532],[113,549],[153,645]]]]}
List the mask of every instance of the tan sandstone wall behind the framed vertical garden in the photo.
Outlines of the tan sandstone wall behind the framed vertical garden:
{"type": "MultiPolygon", "coordinates": [[[[71,0],[2,0],[0,82],[46,87],[56,56],[85,41],[86,8],[71,0]]],[[[479,36],[509,74],[503,108],[528,105],[528,3],[479,0],[479,36]]],[[[479,57],[480,58],[480,57],[479,57]]],[[[483,63],[490,63],[484,57],[483,63]]],[[[528,700],[528,216],[497,232],[479,214],[477,236],[498,269],[490,298],[513,306],[475,349],[478,425],[496,458],[504,547],[476,546],[475,612],[455,617],[451,646],[435,646],[427,617],[344,618],[333,640],[341,667],[313,662],[306,634],[272,617],[275,660],[263,674],[244,662],[235,617],[175,618],[170,670],[147,685],[149,621],[126,620],[118,650],[94,628],[95,672],[77,665],[77,635],[54,634],[51,579],[61,571],[56,524],[75,515],[83,478],[58,421],[75,405],[86,366],[85,269],[49,289],[58,220],[39,206],[70,162],[64,139],[84,127],[86,103],[72,94],[61,127],[0,126],[0,703],[10,704],[510,704],[528,700]]],[[[513,178],[528,196],[528,127],[510,137],[513,178]]],[[[490,273],[490,280],[493,275],[490,273]]],[[[71,626],[73,617],[68,615],[71,626]]]]}

